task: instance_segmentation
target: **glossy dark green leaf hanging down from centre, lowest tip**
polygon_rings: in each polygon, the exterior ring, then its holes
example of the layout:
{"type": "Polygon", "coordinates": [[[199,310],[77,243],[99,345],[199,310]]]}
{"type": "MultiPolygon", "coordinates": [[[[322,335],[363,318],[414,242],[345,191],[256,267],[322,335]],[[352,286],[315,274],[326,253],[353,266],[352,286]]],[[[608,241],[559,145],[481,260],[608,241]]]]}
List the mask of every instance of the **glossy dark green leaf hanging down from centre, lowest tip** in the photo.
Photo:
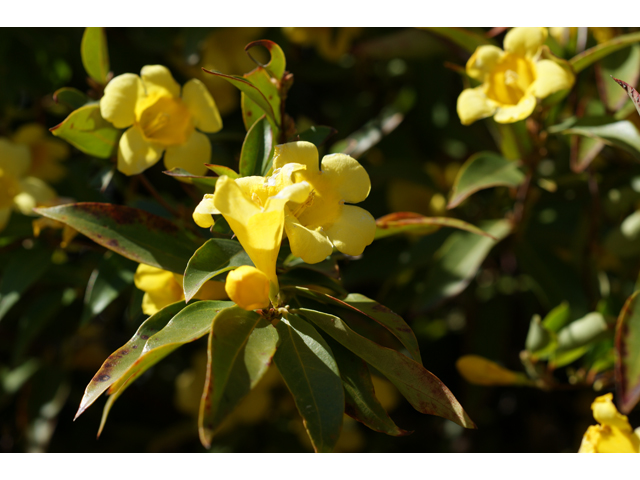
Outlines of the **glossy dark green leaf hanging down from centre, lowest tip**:
{"type": "Polygon", "coordinates": [[[302,416],[316,452],[331,452],[342,428],[344,390],[331,348],[303,319],[287,315],[276,325],[276,366],[302,416]]]}

